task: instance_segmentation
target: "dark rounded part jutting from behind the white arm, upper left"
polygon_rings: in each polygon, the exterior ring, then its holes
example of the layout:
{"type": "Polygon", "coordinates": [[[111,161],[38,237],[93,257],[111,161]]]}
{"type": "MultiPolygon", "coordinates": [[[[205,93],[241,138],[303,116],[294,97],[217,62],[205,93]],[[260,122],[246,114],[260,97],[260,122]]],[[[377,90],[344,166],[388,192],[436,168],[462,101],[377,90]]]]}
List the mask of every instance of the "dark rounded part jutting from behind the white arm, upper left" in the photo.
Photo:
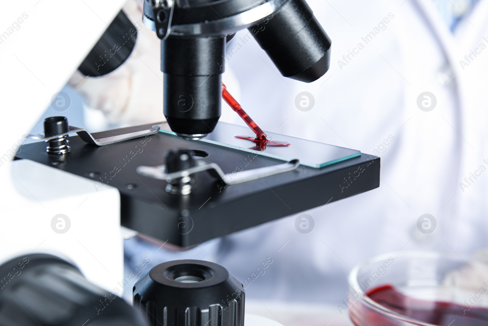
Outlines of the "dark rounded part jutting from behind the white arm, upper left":
{"type": "Polygon", "coordinates": [[[121,10],[78,70],[90,77],[98,77],[114,71],[130,56],[136,39],[136,27],[121,10]]]}

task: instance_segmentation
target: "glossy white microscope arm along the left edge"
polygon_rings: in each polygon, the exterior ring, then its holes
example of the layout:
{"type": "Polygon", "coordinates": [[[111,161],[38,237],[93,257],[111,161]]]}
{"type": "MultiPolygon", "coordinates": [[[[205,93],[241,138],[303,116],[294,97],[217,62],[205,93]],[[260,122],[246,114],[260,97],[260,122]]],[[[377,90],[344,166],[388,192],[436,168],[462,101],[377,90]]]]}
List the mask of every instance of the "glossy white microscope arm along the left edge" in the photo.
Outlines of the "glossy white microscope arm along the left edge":
{"type": "Polygon", "coordinates": [[[124,2],[32,0],[0,5],[0,20],[20,26],[0,31],[0,247],[5,249],[0,261],[34,250],[61,254],[75,261],[90,281],[110,291],[113,284],[109,280],[120,279],[123,272],[118,191],[107,186],[97,192],[93,182],[30,160],[12,159],[53,94],[66,84],[124,2]],[[91,206],[80,206],[87,197],[83,205],[91,202],[91,206]],[[94,236],[90,230],[100,223],[95,216],[101,216],[96,210],[102,203],[108,218],[99,227],[105,231],[95,230],[99,234],[94,236]],[[88,207],[89,213],[85,211],[88,207]],[[81,213],[89,218],[78,218],[81,213]],[[50,226],[57,214],[71,218],[72,228],[64,237],[50,226]],[[81,243],[99,260],[97,248],[113,250],[116,255],[102,261],[110,272],[81,243]]]}

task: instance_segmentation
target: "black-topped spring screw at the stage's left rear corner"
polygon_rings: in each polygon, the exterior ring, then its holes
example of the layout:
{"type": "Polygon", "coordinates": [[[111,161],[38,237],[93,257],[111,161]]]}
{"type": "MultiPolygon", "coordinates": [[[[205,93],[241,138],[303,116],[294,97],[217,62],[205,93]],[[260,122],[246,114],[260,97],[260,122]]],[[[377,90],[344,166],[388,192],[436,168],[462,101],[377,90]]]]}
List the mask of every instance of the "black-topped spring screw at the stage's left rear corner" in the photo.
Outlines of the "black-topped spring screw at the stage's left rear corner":
{"type": "MultiPolygon", "coordinates": [[[[49,117],[44,119],[45,137],[62,135],[68,131],[68,119],[66,117],[49,117]]],[[[62,135],[59,138],[47,141],[46,152],[49,154],[61,155],[69,153],[70,150],[68,135],[62,135]]]]}

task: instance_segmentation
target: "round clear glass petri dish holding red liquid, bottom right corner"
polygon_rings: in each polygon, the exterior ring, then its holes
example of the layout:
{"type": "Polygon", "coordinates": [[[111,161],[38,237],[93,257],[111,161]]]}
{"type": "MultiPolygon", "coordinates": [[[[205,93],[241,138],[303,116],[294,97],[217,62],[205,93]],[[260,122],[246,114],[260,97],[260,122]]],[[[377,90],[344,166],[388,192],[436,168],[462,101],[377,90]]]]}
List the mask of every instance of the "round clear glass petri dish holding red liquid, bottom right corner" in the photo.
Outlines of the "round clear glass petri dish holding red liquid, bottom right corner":
{"type": "Polygon", "coordinates": [[[350,273],[356,326],[488,326],[488,261],[436,252],[376,257],[350,273]]]}

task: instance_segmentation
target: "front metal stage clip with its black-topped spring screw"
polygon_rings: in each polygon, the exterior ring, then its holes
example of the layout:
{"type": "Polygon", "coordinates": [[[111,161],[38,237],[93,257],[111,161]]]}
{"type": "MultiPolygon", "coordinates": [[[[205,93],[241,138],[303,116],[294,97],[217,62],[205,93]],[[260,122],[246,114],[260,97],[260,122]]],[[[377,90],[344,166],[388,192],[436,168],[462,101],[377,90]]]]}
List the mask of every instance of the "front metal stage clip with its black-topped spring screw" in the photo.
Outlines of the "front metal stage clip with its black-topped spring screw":
{"type": "Polygon", "coordinates": [[[300,165],[298,159],[284,164],[277,164],[258,169],[245,170],[236,173],[224,174],[217,163],[205,160],[194,160],[193,151],[173,149],[166,153],[166,164],[158,166],[140,166],[137,173],[144,176],[166,180],[166,191],[174,195],[188,195],[194,187],[193,174],[208,171],[226,185],[236,185],[247,181],[260,179],[266,176],[293,171],[300,165]]]}

